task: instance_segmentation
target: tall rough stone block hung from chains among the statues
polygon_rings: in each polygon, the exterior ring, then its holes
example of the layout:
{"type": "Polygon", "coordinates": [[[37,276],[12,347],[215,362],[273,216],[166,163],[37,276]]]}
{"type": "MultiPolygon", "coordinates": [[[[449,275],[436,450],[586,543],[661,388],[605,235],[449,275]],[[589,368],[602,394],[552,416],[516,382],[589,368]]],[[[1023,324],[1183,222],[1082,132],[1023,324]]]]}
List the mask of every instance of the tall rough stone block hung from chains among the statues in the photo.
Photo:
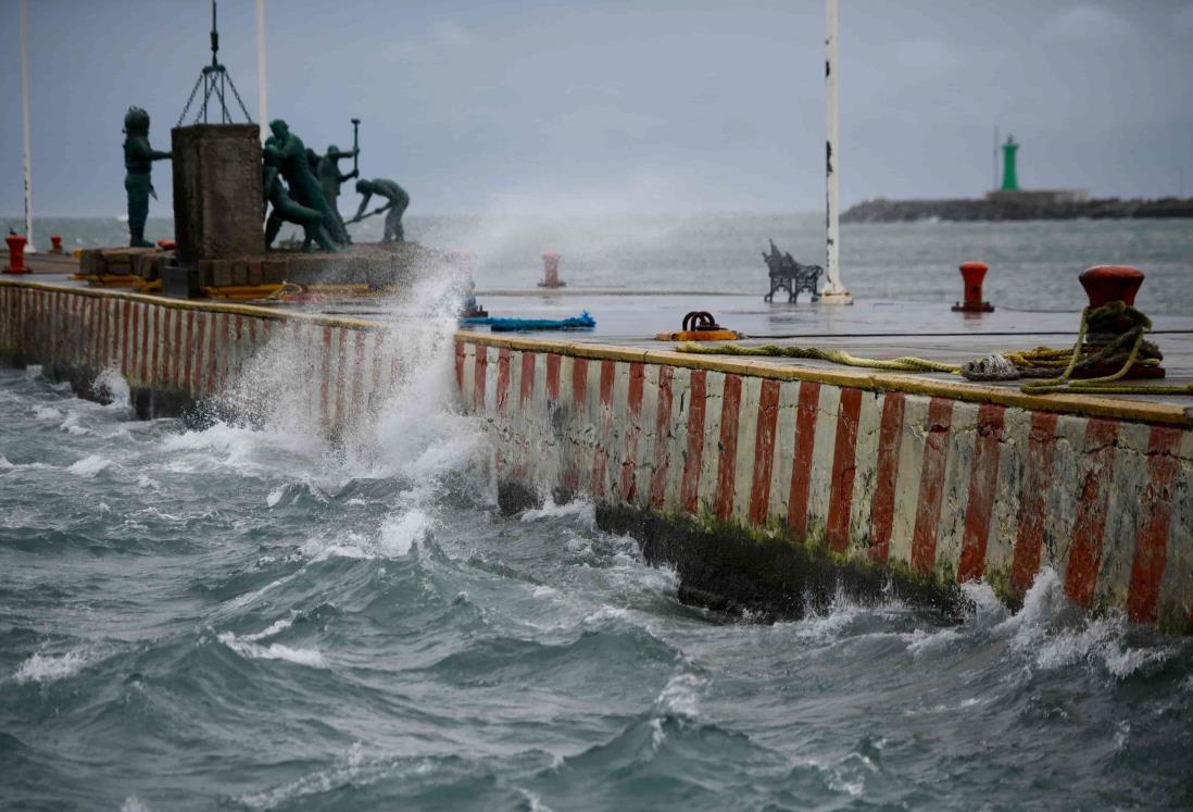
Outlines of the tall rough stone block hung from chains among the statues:
{"type": "Polygon", "coordinates": [[[171,140],[179,266],[265,253],[258,125],[175,127],[171,140]]]}

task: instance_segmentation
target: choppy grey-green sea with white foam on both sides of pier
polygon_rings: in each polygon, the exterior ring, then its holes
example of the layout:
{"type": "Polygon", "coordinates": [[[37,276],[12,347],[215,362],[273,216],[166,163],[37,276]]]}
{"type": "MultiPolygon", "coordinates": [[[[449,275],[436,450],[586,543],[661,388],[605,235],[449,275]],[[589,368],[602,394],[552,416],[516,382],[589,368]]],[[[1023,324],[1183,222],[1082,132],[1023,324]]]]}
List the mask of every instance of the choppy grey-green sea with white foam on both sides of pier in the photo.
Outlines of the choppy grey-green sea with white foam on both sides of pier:
{"type": "MultiPolygon", "coordinates": [[[[591,251],[557,232],[484,254],[475,232],[415,226],[481,251],[482,285],[528,285],[545,247],[577,277],[592,262],[589,284],[626,282],[599,234],[591,251]]],[[[1094,226],[956,233],[1008,258],[1084,257],[1099,252],[1074,229],[1094,226]]],[[[872,246],[871,278],[889,265],[919,290],[907,269],[947,254],[956,275],[953,228],[854,244],[872,246]]],[[[1136,252],[1187,279],[1188,223],[1154,228],[1099,262],[1136,252]]],[[[635,284],[682,270],[756,288],[768,228],[750,229],[733,240],[748,281],[673,229],[650,248],[672,272],[635,284]]],[[[335,444],[283,383],[234,383],[258,419],[199,429],[136,420],[112,373],[100,405],[37,368],[0,371],[0,807],[1193,806],[1193,641],[1086,617],[1050,571],[1018,613],[966,586],[959,622],[895,598],[774,625],[686,607],[591,504],[497,511],[483,438],[451,404],[449,336],[428,319],[391,401],[335,444]]]]}

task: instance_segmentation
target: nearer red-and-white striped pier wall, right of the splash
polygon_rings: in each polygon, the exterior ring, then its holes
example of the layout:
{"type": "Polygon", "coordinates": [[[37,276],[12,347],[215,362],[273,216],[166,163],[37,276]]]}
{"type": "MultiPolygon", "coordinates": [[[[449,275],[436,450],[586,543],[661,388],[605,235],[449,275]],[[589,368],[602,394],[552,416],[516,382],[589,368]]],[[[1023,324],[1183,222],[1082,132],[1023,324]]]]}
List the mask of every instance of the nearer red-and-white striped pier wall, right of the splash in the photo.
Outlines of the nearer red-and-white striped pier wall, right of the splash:
{"type": "Polygon", "coordinates": [[[657,556],[706,582],[697,593],[750,605],[778,543],[942,595],[985,579],[1010,602],[1047,566],[1081,607],[1193,628],[1180,410],[463,336],[456,380],[500,481],[721,536],[657,556]]]}

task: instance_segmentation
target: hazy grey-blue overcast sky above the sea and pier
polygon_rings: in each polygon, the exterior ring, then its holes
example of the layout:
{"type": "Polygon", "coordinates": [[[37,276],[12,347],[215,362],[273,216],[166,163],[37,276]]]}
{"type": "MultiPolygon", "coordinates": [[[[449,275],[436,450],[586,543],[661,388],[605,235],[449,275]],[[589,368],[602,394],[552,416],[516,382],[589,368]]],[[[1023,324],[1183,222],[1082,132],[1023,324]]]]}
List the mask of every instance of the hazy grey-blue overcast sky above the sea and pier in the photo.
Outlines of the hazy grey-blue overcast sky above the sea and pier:
{"type": "MultiPolygon", "coordinates": [[[[120,213],[124,111],[146,107],[169,148],[210,2],[29,6],[35,214],[120,213]]],[[[841,6],[846,204],[979,195],[996,124],[1025,187],[1174,195],[1183,166],[1193,195],[1193,0],[841,6]]],[[[823,205],[821,0],[268,0],[267,17],[270,117],[317,149],[361,118],[361,172],[406,186],[412,214],[823,205]]],[[[222,0],[220,21],[255,118],[253,0],[222,0]]],[[[21,210],[18,23],[8,0],[4,214],[21,210]]]]}

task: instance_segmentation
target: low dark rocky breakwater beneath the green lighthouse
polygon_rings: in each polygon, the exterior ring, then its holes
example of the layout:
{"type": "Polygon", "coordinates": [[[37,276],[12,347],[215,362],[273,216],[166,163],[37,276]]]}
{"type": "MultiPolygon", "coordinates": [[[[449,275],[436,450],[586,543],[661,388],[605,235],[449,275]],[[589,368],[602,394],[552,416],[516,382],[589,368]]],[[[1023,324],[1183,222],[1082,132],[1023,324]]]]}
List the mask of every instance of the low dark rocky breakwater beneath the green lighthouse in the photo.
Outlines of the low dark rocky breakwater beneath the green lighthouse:
{"type": "Polygon", "coordinates": [[[1040,202],[1031,199],[923,199],[890,201],[874,198],[858,203],[841,214],[843,222],[885,223],[944,220],[1130,220],[1135,217],[1193,217],[1193,198],[1120,199],[1117,197],[1040,202]]]}

